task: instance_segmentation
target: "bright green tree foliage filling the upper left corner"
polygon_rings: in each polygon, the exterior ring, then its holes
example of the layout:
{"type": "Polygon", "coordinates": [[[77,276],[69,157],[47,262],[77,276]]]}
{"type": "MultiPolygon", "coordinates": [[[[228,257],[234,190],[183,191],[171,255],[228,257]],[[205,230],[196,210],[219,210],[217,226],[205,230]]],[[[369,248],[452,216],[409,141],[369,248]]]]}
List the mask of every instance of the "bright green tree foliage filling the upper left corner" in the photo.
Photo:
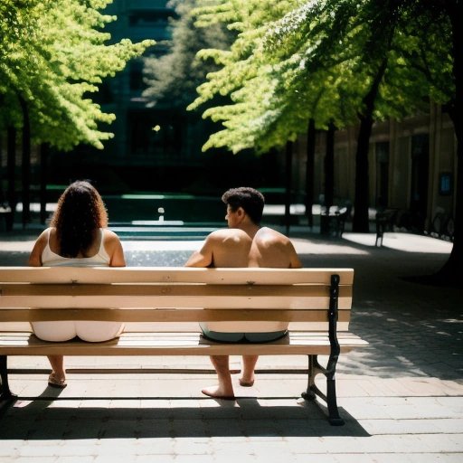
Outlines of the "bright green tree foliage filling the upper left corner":
{"type": "Polygon", "coordinates": [[[122,70],[152,41],[124,39],[107,44],[101,14],[111,0],[5,0],[0,5],[0,105],[3,127],[20,128],[18,105],[27,105],[33,142],[60,149],[79,143],[102,148],[112,134],[99,129],[115,117],[104,113],[89,94],[105,77],[122,70]]]}

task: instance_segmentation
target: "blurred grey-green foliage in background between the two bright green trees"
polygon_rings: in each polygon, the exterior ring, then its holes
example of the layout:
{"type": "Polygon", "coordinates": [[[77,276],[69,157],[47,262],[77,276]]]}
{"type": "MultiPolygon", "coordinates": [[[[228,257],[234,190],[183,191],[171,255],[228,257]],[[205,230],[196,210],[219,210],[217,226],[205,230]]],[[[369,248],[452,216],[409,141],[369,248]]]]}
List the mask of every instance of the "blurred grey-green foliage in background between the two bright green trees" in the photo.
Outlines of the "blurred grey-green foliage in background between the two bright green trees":
{"type": "MultiPolygon", "coordinates": [[[[173,0],[176,18],[171,20],[172,40],[166,41],[167,52],[145,59],[144,74],[147,88],[143,96],[148,106],[158,102],[184,109],[194,99],[196,87],[208,72],[216,69],[211,61],[202,61],[196,54],[206,48],[227,48],[233,38],[222,24],[194,27],[191,12],[198,0],[173,0]]],[[[159,43],[163,45],[164,43],[159,43]]]]}

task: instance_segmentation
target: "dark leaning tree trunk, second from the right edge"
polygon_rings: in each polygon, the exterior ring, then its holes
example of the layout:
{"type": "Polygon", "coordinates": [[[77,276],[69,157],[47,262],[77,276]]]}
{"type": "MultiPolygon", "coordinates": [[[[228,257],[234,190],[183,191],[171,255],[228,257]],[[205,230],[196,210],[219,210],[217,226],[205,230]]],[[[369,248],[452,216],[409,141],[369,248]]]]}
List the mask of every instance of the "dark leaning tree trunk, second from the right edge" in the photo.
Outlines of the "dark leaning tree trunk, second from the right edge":
{"type": "Polygon", "coordinates": [[[373,128],[374,101],[378,95],[386,65],[387,58],[383,60],[376,72],[372,87],[364,97],[364,111],[362,114],[359,114],[360,129],[357,138],[357,151],[355,154],[355,199],[354,219],[352,221],[352,231],[358,233],[368,233],[368,231],[370,231],[368,218],[368,148],[373,128]]]}

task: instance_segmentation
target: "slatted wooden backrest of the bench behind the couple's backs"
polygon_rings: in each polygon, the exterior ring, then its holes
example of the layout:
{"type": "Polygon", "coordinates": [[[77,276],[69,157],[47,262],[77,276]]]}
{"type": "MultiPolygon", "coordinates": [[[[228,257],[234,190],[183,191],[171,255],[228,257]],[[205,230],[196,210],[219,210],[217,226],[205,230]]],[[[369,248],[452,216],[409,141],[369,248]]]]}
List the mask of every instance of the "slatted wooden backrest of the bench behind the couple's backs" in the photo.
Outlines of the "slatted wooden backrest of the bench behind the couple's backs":
{"type": "Polygon", "coordinates": [[[0,330],[7,322],[80,319],[194,322],[194,329],[199,321],[278,320],[318,331],[327,326],[333,275],[338,330],[346,330],[353,269],[0,267],[0,330]]]}

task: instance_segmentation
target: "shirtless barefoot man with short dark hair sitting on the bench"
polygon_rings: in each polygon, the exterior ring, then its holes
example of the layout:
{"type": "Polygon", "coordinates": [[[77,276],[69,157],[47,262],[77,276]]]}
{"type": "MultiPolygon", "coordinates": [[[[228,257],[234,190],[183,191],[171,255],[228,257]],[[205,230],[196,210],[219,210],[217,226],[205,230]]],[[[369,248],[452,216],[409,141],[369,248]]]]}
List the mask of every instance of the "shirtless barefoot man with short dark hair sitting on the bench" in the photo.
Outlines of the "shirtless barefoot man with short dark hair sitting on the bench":
{"type": "MultiPolygon", "coordinates": [[[[231,188],[222,195],[227,204],[225,220],[228,229],[210,233],[201,250],[194,251],[186,267],[271,267],[299,269],[302,267],[293,244],[285,235],[260,227],[264,197],[250,187],[231,188]]],[[[202,323],[203,335],[214,341],[261,343],[286,335],[285,322],[213,322],[202,323]]],[[[241,386],[254,384],[257,355],[243,355],[241,386]]],[[[213,355],[211,361],[219,384],[203,389],[210,397],[234,400],[229,355],[213,355]]]]}

